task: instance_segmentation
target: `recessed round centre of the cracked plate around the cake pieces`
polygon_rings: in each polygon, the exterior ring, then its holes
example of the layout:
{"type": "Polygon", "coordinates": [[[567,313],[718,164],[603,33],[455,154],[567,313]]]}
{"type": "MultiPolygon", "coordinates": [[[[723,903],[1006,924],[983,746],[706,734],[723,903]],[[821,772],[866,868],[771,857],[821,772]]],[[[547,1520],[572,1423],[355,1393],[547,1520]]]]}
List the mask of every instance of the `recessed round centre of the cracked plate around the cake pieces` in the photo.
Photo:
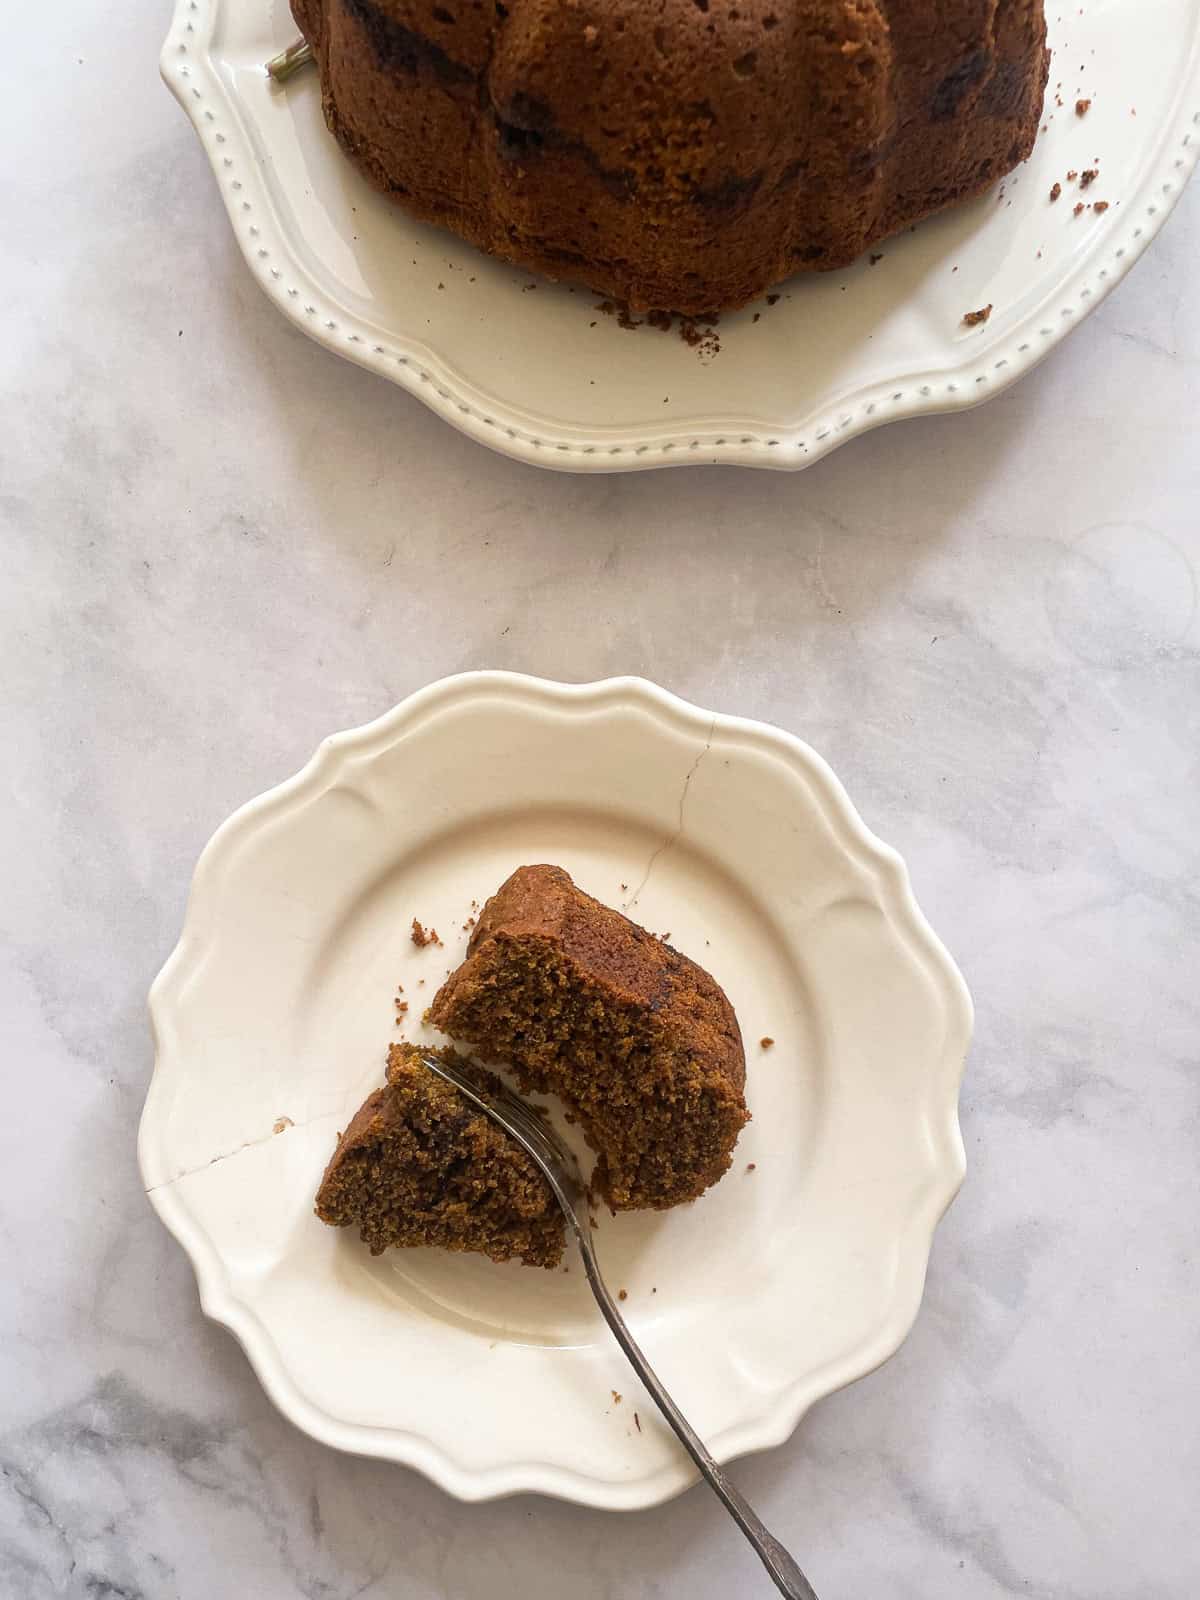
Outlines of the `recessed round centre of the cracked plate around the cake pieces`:
{"type": "MultiPolygon", "coordinates": [[[[643,1331],[664,1320],[686,1325],[712,1317],[730,1294],[754,1296],[755,1280],[779,1270],[790,1230],[805,1216],[805,1174],[819,1138],[826,1072],[802,965],[770,909],[739,883],[731,862],[685,840],[666,851],[661,843],[650,826],[608,810],[546,810],[485,816],[397,853],[314,949],[290,1046],[301,1096],[307,1078],[320,1082],[347,1069],[338,1043],[346,1032],[347,990],[362,994],[357,1005],[374,1026],[376,1045],[352,1070],[363,1096],[381,1080],[389,1032],[395,1040],[445,1042],[422,1026],[421,1014],[466,952],[472,902],[477,907],[523,864],[563,866],[586,891],[651,931],[670,934],[730,994],[744,1034],[746,1094],[755,1120],[738,1142],[730,1173],[701,1200],[669,1213],[597,1211],[605,1275],[638,1307],[643,1331]],[[410,936],[413,917],[435,926],[445,947],[418,949],[410,936]],[[398,1027],[397,984],[410,1006],[398,1027]],[[763,1037],[773,1040],[770,1048],[762,1046],[763,1037]],[[720,1278],[712,1274],[714,1258],[723,1262],[720,1278]]],[[[587,1171],[592,1155],[578,1128],[566,1126],[558,1102],[547,1104],[587,1171]]],[[[304,1214],[301,1224],[317,1226],[304,1214]]],[[[371,1258],[349,1229],[339,1245],[338,1275],[350,1293],[400,1296],[434,1320],[488,1339],[546,1346],[608,1339],[573,1251],[565,1269],[547,1272],[440,1250],[389,1250],[371,1258]]]]}

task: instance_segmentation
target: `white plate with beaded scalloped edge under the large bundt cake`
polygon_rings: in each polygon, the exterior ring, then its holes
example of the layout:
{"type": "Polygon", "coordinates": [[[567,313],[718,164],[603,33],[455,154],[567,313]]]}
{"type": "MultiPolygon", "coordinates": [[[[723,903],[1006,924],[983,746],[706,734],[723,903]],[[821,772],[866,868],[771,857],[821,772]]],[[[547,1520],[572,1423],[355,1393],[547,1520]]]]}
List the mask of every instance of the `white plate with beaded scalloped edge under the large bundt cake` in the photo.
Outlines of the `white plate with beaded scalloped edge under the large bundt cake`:
{"type": "Polygon", "coordinates": [[[998,394],[1099,304],[1179,197],[1200,152],[1200,0],[1048,13],[1046,131],[1002,192],[891,240],[874,267],[795,278],[778,304],[723,317],[710,360],[373,194],[325,131],[315,75],[278,90],[262,72],[294,37],[285,0],[176,0],[162,69],[275,304],[472,438],[568,470],[805,467],[880,422],[998,394]],[[1110,208],[1077,219],[1066,173],[1096,162],[1083,198],[1110,208]],[[986,326],[963,326],[989,304],[986,326]]]}

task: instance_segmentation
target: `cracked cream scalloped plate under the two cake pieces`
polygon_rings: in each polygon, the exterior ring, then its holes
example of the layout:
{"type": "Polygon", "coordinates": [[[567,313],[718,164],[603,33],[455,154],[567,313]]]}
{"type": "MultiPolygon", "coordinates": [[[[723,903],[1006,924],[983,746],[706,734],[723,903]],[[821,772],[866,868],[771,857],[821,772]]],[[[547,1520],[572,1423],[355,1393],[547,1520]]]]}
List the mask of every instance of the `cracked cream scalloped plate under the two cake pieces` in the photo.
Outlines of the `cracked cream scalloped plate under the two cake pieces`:
{"type": "Polygon", "coordinates": [[[640,678],[446,678],[218,829],[150,997],[141,1170],[205,1310],[309,1434],[462,1499],[651,1506],[694,1474],[578,1261],[371,1259],[312,1214],[338,1130],[382,1078],[397,982],[408,1035],[432,1037],[418,1019],[472,899],[528,861],[670,933],[742,1024],[754,1122],[733,1170],[598,1234],[717,1458],[779,1443],[886,1360],[963,1176],[966,989],[808,746],[640,678]],[[445,947],[416,949],[413,917],[445,947]]]}

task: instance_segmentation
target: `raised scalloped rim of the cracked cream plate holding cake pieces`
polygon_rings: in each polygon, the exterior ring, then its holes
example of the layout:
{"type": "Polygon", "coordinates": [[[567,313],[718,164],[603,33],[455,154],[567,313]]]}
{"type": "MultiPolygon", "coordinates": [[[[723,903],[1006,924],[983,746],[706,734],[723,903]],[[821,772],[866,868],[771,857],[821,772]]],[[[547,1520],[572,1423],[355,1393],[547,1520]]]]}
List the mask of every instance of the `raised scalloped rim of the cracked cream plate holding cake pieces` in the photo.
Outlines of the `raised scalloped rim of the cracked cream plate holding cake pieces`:
{"type": "Polygon", "coordinates": [[[288,1374],[269,1330],[254,1309],[234,1293],[219,1251],[205,1235],[202,1224],[189,1213],[179,1182],[192,1173],[158,1178],[157,1182],[149,1181],[157,1178],[162,1168],[162,1157],[155,1146],[162,1131],[155,1115],[157,1091],[162,1090],[171,1072],[181,1070],[181,1062],[174,1056],[178,1040],[171,1019],[173,995],[186,982],[189,968],[203,954],[205,930],[203,926],[197,930],[195,920],[197,915],[203,917],[206,902],[211,902],[219,891],[221,874],[237,843],[259,822],[304,805],[309,790],[315,790],[322,778],[341,771],[347,760],[366,755],[371,749],[390,747],[395,736],[403,728],[414,725],[418,718],[437,715],[440,709],[454,704],[459,696],[478,693],[515,693],[533,702],[557,706],[597,706],[605,699],[621,706],[640,704],[654,710],[670,726],[699,739],[710,739],[715,731],[722,731],[784,755],[806,778],[813,779],[816,802],[826,819],[835,826],[840,845],[850,854],[867,859],[880,869],[880,904],[888,912],[896,914],[894,926],[907,934],[910,952],[920,957],[925,970],[936,978],[941,998],[946,1002],[947,1042],[942,1058],[936,1064],[938,1072],[931,1069],[931,1075],[946,1070],[949,1098],[942,1107],[942,1120],[936,1125],[938,1160],[931,1160],[930,1181],[920,1190],[918,1203],[914,1205],[904,1227],[898,1232],[898,1270],[890,1317],[838,1360],[773,1392],[765,1398],[757,1414],[744,1418],[736,1429],[726,1429],[720,1438],[712,1440],[710,1445],[718,1459],[730,1461],[782,1443],[816,1400],[883,1365],[907,1338],[920,1309],[936,1226],[958,1192],[966,1171],[958,1126],[958,1090],[973,1030],[973,1003],[952,957],[917,906],[902,858],[866,826],[840,779],[811,746],[770,723],[706,712],[669,690],[638,677],[560,683],[517,672],[480,670],[440,678],[414,691],[381,717],[323,739],[298,773],[238,806],[202,850],[192,877],[182,933],[149,994],[155,1064],[138,1133],[138,1163],[150,1203],[192,1262],[205,1315],[229,1328],[237,1338],[275,1406],[322,1443],[352,1454],[416,1467],[461,1501],[483,1501],[531,1491],[597,1509],[637,1510],[672,1499],[683,1493],[694,1478],[680,1477],[678,1470],[661,1469],[640,1478],[616,1482],[589,1477],[560,1462],[528,1459],[509,1461],[502,1467],[478,1469],[456,1461],[438,1442],[422,1434],[406,1432],[394,1426],[376,1427],[347,1422],[315,1405],[288,1374]]]}

